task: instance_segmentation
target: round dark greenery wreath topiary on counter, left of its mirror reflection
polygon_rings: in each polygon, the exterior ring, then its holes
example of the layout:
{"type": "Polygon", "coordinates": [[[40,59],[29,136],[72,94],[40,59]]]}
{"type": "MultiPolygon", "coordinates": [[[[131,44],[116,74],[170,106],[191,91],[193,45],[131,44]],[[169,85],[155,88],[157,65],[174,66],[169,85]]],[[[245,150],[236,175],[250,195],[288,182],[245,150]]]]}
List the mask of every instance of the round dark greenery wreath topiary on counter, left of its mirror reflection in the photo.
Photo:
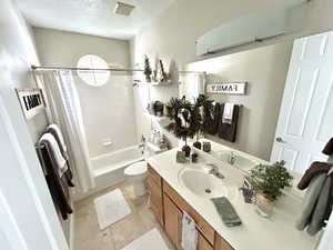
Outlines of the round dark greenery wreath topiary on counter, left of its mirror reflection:
{"type": "Polygon", "coordinates": [[[167,117],[172,122],[165,129],[185,142],[188,138],[193,138],[200,130],[201,116],[199,109],[186,101],[184,97],[182,99],[171,98],[167,104],[167,117]]]}

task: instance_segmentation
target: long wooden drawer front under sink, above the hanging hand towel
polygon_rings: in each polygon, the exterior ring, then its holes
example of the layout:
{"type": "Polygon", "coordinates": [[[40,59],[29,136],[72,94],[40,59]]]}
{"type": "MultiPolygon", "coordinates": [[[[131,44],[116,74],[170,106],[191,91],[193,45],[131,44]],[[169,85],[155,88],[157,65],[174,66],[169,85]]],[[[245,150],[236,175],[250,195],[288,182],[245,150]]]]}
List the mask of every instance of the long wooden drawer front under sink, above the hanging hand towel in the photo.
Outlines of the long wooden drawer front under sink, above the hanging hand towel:
{"type": "Polygon", "coordinates": [[[163,192],[183,211],[185,211],[196,223],[198,230],[209,241],[214,244],[214,229],[190,206],[181,198],[178,192],[163,181],[163,192]]]}

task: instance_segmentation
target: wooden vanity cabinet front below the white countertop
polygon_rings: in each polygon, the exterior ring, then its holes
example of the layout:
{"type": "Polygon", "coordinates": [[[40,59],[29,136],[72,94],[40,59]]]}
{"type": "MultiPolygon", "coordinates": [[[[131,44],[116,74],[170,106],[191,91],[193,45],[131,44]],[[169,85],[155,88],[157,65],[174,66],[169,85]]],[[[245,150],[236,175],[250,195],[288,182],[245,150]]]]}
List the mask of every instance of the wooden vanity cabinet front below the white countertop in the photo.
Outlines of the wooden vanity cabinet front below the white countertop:
{"type": "Polygon", "coordinates": [[[214,229],[150,166],[148,166],[148,172],[151,209],[178,250],[183,250],[181,247],[183,211],[195,221],[198,229],[196,250],[234,250],[222,237],[215,233],[214,229]]]}

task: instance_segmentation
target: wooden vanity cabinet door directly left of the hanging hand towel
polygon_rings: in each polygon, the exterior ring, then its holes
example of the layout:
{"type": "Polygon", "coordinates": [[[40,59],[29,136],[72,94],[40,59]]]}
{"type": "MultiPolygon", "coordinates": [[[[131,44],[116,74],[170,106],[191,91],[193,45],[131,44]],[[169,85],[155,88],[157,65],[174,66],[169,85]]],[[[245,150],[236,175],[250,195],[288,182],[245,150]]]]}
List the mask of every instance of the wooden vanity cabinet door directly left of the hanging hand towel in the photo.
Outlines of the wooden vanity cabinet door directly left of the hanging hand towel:
{"type": "Polygon", "coordinates": [[[169,239],[181,250],[181,221],[182,211],[170,200],[168,196],[163,196],[164,200],[164,229],[169,239]]]}

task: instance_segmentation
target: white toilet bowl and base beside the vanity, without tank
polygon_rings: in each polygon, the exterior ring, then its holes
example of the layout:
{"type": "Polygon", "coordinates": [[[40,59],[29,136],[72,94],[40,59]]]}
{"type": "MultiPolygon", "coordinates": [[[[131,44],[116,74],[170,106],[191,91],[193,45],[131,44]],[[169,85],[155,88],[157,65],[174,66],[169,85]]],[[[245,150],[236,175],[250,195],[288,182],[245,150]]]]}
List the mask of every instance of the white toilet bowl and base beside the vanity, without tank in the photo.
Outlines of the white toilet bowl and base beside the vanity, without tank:
{"type": "Polygon", "coordinates": [[[124,174],[127,179],[133,184],[135,197],[145,194],[147,189],[144,180],[147,178],[147,162],[139,161],[125,168],[124,174]]]}

